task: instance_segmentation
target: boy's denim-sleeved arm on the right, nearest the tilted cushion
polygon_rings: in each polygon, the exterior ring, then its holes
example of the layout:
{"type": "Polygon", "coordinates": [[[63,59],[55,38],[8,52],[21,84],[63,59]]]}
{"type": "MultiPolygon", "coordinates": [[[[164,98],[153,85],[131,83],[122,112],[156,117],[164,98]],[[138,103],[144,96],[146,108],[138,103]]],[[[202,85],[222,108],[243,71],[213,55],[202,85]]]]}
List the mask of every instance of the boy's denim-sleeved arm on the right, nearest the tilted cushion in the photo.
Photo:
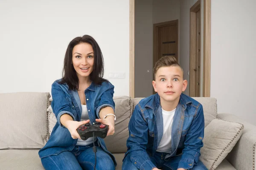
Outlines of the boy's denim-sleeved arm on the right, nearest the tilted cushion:
{"type": "Polygon", "coordinates": [[[185,137],[183,155],[178,168],[190,169],[197,164],[204,138],[204,111],[200,104],[185,137]]]}

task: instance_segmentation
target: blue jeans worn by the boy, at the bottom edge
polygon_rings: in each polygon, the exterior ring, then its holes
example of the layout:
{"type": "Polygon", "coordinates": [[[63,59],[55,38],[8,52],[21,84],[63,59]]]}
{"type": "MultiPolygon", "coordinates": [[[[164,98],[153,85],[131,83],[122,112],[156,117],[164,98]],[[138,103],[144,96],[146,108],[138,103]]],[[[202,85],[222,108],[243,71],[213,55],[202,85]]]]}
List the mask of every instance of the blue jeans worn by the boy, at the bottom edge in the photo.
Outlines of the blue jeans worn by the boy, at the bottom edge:
{"type": "MultiPolygon", "coordinates": [[[[154,156],[149,156],[149,158],[151,162],[161,170],[177,170],[181,156],[175,156],[169,159],[169,161],[165,161],[164,158],[167,154],[168,153],[156,152],[154,156]]],[[[129,155],[128,153],[123,160],[122,170],[138,170],[134,163],[131,162],[129,155]]],[[[201,161],[198,161],[197,165],[194,165],[193,168],[189,170],[207,170],[207,167],[205,167],[201,161]]]]}

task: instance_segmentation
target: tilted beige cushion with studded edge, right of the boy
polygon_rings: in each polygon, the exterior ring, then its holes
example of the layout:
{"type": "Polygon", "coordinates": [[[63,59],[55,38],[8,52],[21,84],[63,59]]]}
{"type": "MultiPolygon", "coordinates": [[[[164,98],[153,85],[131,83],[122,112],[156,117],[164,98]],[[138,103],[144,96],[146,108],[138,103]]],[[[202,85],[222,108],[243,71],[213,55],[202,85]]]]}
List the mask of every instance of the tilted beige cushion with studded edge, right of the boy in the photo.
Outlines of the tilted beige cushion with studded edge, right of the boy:
{"type": "Polygon", "coordinates": [[[209,170],[215,170],[239,140],[244,125],[214,119],[204,130],[204,146],[200,160],[209,170]]]}

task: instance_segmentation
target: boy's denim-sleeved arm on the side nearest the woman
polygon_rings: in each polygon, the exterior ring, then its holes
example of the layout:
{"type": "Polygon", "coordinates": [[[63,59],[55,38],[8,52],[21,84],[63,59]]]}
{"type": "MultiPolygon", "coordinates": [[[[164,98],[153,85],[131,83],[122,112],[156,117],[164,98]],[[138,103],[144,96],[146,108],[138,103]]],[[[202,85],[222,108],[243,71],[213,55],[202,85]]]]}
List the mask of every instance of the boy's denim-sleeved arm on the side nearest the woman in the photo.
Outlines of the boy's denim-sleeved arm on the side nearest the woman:
{"type": "Polygon", "coordinates": [[[148,124],[138,105],[134,109],[128,126],[129,137],[127,139],[127,147],[130,153],[129,159],[139,170],[152,170],[156,166],[151,162],[146,152],[148,124]]]}

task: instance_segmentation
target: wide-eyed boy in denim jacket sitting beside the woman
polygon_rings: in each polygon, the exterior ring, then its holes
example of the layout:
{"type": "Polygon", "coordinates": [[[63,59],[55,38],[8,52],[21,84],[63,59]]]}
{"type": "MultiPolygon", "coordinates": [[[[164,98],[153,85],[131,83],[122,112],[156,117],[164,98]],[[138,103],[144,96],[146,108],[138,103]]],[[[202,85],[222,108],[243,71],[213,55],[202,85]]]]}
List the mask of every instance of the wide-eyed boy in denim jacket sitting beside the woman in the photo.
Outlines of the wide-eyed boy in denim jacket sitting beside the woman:
{"type": "Polygon", "coordinates": [[[203,108],[181,94],[187,81],[175,57],[159,59],[154,78],[157,94],[142,99],[131,116],[122,170],[207,170],[199,161],[203,108]]]}

